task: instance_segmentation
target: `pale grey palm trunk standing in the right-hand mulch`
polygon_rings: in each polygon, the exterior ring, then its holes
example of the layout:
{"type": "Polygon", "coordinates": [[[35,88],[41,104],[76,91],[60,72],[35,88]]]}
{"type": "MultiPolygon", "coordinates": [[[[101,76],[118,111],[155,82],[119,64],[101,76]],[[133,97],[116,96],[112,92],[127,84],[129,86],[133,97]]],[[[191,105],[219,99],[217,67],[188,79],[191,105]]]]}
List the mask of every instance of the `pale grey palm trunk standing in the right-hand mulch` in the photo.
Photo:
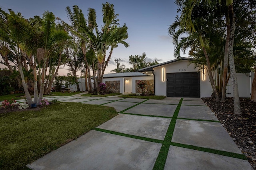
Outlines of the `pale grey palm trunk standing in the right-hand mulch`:
{"type": "Polygon", "coordinates": [[[233,4],[228,6],[228,13],[230,16],[230,39],[228,43],[228,58],[229,58],[231,80],[233,85],[234,114],[240,115],[242,111],[240,107],[240,99],[239,99],[238,84],[236,79],[236,68],[235,68],[234,51],[233,51],[234,32],[235,32],[235,18],[234,18],[233,4]]]}

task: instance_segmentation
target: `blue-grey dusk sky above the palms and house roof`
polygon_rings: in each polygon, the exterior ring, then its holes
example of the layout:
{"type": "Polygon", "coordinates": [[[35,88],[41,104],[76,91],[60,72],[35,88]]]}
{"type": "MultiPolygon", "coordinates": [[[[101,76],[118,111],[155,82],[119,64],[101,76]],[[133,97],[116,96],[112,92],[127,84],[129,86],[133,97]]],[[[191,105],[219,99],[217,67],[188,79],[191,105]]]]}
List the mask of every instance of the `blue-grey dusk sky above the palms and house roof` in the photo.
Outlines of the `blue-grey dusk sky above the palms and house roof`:
{"type": "MultiPolygon", "coordinates": [[[[129,47],[125,48],[122,44],[114,49],[108,68],[105,74],[116,68],[115,59],[122,59],[120,64],[130,68],[129,56],[142,55],[151,60],[157,60],[159,63],[174,59],[174,45],[172,38],[168,35],[168,27],[175,21],[177,15],[177,6],[175,0],[108,0],[114,4],[116,14],[119,14],[120,26],[124,23],[128,27],[129,47]]],[[[105,0],[3,0],[0,8],[5,10],[12,9],[14,12],[20,12],[24,18],[33,16],[42,16],[44,11],[53,12],[56,17],[68,22],[66,7],[72,8],[73,5],[83,11],[87,16],[88,8],[96,10],[97,23],[102,22],[102,4],[105,0]]],[[[108,54],[107,54],[108,55],[108,54]]],[[[187,57],[183,55],[182,57],[187,57]]],[[[67,70],[60,66],[59,74],[66,75],[67,70]]],[[[67,66],[65,68],[68,68],[67,66]]],[[[79,74],[79,73],[78,73],[79,74]]]]}

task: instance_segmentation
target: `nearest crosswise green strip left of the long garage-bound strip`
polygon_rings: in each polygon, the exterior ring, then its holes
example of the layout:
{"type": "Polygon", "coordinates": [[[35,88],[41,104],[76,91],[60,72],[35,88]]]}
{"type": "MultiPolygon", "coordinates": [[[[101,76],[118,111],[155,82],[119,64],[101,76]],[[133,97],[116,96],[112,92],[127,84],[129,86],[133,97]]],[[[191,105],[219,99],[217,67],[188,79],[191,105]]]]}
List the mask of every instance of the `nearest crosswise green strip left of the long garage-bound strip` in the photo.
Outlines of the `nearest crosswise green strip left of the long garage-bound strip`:
{"type": "Polygon", "coordinates": [[[94,128],[94,130],[95,131],[100,131],[100,132],[105,132],[105,133],[110,133],[110,134],[113,134],[113,135],[119,135],[119,136],[134,138],[134,139],[140,139],[140,140],[143,140],[143,141],[149,141],[149,142],[154,142],[154,143],[163,143],[163,141],[159,140],[159,139],[152,139],[152,138],[148,138],[148,137],[140,137],[140,136],[136,136],[136,135],[129,135],[129,134],[120,133],[120,132],[116,132],[116,131],[100,129],[100,128],[97,128],[97,127],[94,128]]]}

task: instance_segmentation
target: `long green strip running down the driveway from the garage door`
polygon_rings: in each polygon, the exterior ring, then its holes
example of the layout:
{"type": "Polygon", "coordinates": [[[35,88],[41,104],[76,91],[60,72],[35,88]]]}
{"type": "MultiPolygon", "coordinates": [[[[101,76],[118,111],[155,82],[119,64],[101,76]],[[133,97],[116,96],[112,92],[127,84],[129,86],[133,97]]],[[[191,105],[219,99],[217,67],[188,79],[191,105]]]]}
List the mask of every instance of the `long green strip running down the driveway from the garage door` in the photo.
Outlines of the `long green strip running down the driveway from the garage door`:
{"type": "Polygon", "coordinates": [[[180,106],[182,104],[183,98],[180,99],[180,102],[178,104],[178,106],[176,107],[176,110],[174,111],[174,114],[172,116],[172,120],[170,122],[170,125],[168,127],[168,130],[166,132],[166,135],[164,137],[164,142],[162,144],[162,147],[159,151],[159,154],[156,158],[156,162],[154,164],[154,168],[153,170],[163,170],[164,169],[164,165],[168,156],[168,151],[170,148],[170,144],[172,142],[172,135],[174,132],[174,127],[176,124],[176,119],[178,117],[178,113],[180,111],[180,106]]]}

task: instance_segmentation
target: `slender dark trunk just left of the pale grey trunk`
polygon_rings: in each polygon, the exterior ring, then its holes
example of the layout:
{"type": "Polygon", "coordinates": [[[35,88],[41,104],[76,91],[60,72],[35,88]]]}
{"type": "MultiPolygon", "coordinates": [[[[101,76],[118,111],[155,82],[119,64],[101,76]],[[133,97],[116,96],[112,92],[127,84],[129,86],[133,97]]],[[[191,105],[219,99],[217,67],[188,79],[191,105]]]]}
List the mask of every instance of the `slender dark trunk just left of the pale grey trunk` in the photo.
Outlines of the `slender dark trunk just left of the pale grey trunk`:
{"type": "Polygon", "coordinates": [[[230,40],[230,21],[228,14],[226,14],[226,25],[227,25],[227,38],[224,52],[224,69],[223,69],[223,84],[222,84],[222,96],[220,102],[226,101],[226,87],[227,87],[227,74],[228,74],[228,44],[230,40]]]}

